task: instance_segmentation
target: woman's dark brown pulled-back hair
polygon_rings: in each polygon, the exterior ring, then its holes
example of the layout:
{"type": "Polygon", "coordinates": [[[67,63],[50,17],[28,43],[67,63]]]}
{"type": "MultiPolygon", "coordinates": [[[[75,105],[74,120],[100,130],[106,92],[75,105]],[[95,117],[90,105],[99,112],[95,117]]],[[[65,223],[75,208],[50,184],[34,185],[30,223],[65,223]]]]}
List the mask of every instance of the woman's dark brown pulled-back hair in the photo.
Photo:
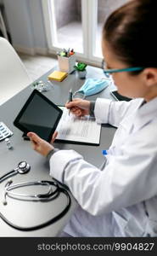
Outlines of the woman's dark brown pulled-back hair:
{"type": "Polygon", "coordinates": [[[103,39],[128,67],[157,67],[156,24],[157,1],[132,0],[109,15],[103,39]]]}

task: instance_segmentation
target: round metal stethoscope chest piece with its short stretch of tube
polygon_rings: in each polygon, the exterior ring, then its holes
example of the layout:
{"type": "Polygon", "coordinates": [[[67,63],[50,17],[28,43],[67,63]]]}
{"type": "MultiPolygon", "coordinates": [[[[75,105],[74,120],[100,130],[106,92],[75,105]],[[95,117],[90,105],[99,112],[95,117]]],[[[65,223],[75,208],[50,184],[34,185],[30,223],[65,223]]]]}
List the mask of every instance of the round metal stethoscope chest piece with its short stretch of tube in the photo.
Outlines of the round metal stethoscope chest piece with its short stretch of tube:
{"type": "Polygon", "coordinates": [[[0,183],[2,183],[5,179],[7,179],[8,177],[12,177],[15,174],[25,174],[27,172],[29,172],[31,169],[31,166],[25,162],[25,161],[21,161],[19,163],[19,165],[17,166],[17,168],[15,168],[14,170],[7,172],[6,174],[4,174],[2,177],[0,177],[0,183]]]}

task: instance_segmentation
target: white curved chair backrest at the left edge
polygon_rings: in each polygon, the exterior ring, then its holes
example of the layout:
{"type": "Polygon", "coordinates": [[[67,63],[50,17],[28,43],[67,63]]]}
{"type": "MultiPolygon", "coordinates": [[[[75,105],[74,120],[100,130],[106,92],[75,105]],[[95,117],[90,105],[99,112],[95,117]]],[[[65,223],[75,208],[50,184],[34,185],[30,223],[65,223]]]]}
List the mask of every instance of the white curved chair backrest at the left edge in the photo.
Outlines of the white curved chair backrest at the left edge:
{"type": "Polygon", "coordinates": [[[8,40],[0,38],[0,105],[23,90],[31,79],[8,40]]]}

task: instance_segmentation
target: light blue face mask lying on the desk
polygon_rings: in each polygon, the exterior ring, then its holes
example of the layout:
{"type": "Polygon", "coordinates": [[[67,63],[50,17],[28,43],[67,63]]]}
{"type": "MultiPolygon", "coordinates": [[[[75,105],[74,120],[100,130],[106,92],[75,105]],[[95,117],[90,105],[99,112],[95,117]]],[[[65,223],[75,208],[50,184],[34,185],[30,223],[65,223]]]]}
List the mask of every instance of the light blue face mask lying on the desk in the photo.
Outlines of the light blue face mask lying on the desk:
{"type": "Polygon", "coordinates": [[[74,96],[76,93],[81,93],[83,98],[85,98],[87,96],[97,94],[108,87],[109,84],[111,84],[110,79],[87,79],[85,84],[83,84],[79,90],[76,90],[74,96]]]}

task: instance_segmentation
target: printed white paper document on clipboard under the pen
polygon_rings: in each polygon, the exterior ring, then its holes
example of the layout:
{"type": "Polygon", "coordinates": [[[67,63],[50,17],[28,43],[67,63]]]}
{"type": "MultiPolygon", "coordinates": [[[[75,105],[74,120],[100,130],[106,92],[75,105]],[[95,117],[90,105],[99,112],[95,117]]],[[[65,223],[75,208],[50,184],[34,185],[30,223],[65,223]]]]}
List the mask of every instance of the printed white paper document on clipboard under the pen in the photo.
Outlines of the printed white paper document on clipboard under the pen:
{"type": "Polygon", "coordinates": [[[69,114],[69,109],[59,107],[63,110],[56,131],[59,132],[56,141],[69,141],[70,143],[99,144],[101,125],[97,124],[90,116],[76,117],[69,114]]]}

